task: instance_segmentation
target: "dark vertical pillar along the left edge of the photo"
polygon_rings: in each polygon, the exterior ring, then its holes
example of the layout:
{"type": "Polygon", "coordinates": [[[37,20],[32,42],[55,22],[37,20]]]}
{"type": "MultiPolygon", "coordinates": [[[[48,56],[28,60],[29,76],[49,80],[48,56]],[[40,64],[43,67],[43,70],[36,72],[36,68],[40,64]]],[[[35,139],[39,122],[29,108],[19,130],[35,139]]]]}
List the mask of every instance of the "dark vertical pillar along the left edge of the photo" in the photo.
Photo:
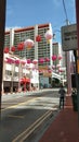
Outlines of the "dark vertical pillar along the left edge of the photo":
{"type": "Polygon", "coordinates": [[[1,120],[4,27],[5,27],[5,3],[6,0],[0,0],[0,120],[1,120]]]}

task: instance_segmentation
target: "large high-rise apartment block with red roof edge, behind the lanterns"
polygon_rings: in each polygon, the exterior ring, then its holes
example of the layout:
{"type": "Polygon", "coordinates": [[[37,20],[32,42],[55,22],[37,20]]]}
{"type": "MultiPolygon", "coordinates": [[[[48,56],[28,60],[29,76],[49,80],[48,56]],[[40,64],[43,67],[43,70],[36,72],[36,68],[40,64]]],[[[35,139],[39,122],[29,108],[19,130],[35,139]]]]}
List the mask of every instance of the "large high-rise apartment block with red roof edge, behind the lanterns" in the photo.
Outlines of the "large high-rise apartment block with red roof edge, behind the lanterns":
{"type": "MultiPolygon", "coordinates": [[[[30,27],[22,27],[22,28],[13,28],[9,32],[5,32],[5,40],[4,40],[4,47],[15,46],[22,42],[25,42],[26,39],[32,39],[35,42],[35,47],[32,47],[30,50],[25,48],[22,51],[16,50],[14,54],[22,57],[22,58],[30,58],[32,59],[40,59],[40,58],[50,58],[49,66],[51,62],[51,56],[52,56],[52,40],[50,43],[47,42],[44,34],[45,32],[50,29],[52,31],[52,26],[50,23],[48,24],[41,24],[41,25],[35,25],[30,27]],[[36,42],[37,35],[41,36],[40,42],[36,42]]],[[[45,63],[44,63],[45,64],[45,63]]]]}

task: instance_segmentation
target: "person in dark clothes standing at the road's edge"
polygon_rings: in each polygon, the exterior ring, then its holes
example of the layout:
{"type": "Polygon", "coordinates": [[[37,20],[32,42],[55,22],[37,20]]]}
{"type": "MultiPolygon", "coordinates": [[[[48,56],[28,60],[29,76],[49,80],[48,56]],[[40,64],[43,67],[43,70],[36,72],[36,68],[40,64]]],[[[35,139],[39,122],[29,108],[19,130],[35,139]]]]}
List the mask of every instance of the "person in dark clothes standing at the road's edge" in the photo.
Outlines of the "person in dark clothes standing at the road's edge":
{"type": "Polygon", "coordinates": [[[58,94],[60,94],[60,108],[61,107],[64,108],[64,102],[65,102],[66,91],[65,91],[65,88],[64,88],[63,85],[61,85],[61,88],[58,90],[58,94]]]}

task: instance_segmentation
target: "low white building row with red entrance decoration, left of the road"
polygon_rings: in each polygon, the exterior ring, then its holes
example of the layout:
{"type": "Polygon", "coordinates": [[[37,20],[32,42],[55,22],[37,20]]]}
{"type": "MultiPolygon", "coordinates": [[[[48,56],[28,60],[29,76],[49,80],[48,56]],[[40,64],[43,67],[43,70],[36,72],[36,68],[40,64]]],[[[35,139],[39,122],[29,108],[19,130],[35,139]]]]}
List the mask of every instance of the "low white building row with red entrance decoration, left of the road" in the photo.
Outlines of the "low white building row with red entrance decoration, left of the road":
{"type": "Polygon", "coordinates": [[[4,54],[2,92],[13,93],[28,85],[30,90],[32,86],[39,88],[39,72],[35,64],[27,63],[12,52],[4,54]]]}

